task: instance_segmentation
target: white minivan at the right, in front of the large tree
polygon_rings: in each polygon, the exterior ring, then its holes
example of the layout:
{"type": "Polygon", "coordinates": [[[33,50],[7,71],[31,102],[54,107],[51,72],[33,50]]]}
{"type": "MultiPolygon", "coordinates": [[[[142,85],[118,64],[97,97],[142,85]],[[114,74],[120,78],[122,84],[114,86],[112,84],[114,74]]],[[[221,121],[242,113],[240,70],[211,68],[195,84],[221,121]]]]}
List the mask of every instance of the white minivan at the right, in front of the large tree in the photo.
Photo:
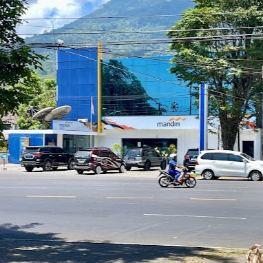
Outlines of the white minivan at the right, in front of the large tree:
{"type": "Polygon", "coordinates": [[[253,181],[262,180],[263,161],[240,151],[201,151],[196,161],[196,173],[211,180],[220,176],[238,176],[253,181]]]}

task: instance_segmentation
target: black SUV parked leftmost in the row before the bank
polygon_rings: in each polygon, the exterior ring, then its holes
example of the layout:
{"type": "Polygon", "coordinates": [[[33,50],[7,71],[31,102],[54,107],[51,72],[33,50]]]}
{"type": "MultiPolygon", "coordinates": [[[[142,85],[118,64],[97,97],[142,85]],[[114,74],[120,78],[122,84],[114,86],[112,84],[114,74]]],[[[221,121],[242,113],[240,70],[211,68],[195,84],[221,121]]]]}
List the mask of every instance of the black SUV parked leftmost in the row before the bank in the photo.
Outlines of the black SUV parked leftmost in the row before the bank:
{"type": "Polygon", "coordinates": [[[34,167],[41,167],[43,171],[56,170],[58,167],[66,166],[73,169],[74,154],[57,146],[27,146],[23,150],[20,158],[21,166],[25,170],[32,171],[34,167]]]}

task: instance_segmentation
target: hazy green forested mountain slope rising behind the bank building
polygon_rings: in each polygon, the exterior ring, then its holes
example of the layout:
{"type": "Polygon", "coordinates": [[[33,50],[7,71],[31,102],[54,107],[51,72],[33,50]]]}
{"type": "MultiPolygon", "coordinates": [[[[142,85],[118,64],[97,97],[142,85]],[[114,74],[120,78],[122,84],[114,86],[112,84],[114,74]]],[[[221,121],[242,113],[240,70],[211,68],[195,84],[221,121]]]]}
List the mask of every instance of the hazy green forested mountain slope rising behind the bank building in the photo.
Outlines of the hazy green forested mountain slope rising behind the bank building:
{"type": "Polygon", "coordinates": [[[109,57],[163,55],[169,48],[165,30],[193,6],[191,0],[111,0],[81,19],[25,41],[50,57],[43,63],[44,72],[38,72],[44,78],[55,76],[58,39],[67,48],[103,43],[109,57]]]}

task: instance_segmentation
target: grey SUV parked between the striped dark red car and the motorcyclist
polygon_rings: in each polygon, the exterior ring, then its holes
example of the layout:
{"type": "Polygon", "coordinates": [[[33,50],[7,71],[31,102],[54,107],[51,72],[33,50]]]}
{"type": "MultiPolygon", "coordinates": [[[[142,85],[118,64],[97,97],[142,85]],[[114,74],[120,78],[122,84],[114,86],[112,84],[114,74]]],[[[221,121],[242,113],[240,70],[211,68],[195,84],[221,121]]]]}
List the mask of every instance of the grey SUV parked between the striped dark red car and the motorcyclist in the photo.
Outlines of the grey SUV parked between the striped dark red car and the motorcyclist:
{"type": "Polygon", "coordinates": [[[129,171],[131,167],[143,168],[146,171],[151,167],[167,167],[167,159],[154,149],[134,148],[128,149],[124,155],[126,169],[129,171]]]}

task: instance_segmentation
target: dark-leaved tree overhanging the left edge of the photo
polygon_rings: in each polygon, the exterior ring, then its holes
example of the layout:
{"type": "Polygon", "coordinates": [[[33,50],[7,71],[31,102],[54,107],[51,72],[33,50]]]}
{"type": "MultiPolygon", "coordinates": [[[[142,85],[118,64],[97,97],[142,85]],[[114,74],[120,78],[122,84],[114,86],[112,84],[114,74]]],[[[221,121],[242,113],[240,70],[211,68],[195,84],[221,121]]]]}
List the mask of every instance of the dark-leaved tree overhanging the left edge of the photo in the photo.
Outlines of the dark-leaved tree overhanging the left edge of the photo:
{"type": "Polygon", "coordinates": [[[0,118],[14,114],[21,103],[35,96],[34,87],[38,80],[33,70],[41,68],[41,61],[45,59],[25,46],[16,32],[27,4],[25,0],[3,0],[0,3],[0,118]]]}

